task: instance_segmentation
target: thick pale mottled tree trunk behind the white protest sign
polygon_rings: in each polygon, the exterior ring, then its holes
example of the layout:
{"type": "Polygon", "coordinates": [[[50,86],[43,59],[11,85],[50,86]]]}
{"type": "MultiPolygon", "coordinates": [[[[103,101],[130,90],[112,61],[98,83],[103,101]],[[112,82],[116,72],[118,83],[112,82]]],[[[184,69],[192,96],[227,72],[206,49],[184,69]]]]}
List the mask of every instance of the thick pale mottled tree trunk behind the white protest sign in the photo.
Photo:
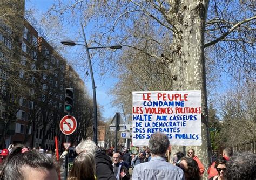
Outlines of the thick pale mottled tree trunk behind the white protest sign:
{"type": "MultiPolygon", "coordinates": [[[[208,109],[206,94],[206,74],[204,59],[204,27],[208,1],[183,1],[177,7],[177,15],[172,20],[177,33],[174,33],[172,51],[173,90],[201,90],[201,146],[187,146],[205,166],[211,163],[211,142],[208,133],[208,109]]],[[[173,146],[173,153],[184,151],[183,147],[173,146]]],[[[172,155],[173,155],[172,153],[172,155]]]]}

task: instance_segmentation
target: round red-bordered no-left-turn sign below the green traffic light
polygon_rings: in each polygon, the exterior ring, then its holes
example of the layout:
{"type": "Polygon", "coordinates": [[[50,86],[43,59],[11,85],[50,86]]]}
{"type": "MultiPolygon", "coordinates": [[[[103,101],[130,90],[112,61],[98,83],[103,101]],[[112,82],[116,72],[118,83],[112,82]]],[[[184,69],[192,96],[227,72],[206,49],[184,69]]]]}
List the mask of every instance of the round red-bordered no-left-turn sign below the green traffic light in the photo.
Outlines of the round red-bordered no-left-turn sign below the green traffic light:
{"type": "Polygon", "coordinates": [[[72,134],[77,128],[77,120],[74,116],[66,115],[60,120],[59,128],[65,135],[72,134]]]}

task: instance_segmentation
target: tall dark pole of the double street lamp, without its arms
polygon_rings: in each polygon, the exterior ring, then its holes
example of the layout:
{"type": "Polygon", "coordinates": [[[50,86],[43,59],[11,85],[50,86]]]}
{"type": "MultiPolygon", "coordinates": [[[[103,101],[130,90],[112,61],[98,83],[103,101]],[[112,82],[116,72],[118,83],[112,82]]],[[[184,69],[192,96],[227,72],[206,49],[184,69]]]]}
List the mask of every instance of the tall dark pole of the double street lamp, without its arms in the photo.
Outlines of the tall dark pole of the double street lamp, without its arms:
{"type": "Polygon", "coordinates": [[[97,135],[98,135],[98,121],[97,121],[97,101],[96,101],[96,86],[94,82],[94,77],[93,77],[93,72],[92,72],[92,64],[91,64],[91,58],[89,54],[89,48],[87,45],[85,33],[84,33],[84,27],[83,24],[81,23],[82,26],[82,31],[84,35],[84,45],[87,53],[87,59],[89,61],[89,67],[90,67],[90,72],[91,72],[91,79],[92,79],[92,93],[93,93],[93,141],[95,142],[97,146],[97,135]]]}

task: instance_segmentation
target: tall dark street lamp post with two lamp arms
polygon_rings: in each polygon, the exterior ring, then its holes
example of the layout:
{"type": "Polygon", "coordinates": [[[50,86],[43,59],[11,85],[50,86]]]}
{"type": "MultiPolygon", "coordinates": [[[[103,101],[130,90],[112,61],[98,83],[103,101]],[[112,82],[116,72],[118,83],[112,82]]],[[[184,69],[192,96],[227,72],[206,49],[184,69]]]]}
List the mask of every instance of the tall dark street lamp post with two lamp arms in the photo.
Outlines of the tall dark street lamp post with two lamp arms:
{"type": "Polygon", "coordinates": [[[90,68],[90,73],[91,73],[91,80],[92,80],[92,93],[93,93],[93,141],[97,145],[97,136],[98,136],[98,120],[97,120],[97,101],[96,101],[96,86],[95,86],[95,81],[93,77],[93,71],[92,71],[92,64],[91,64],[91,57],[89,54],[89,49],[102,49],[102,48],[110,48],[110,49],[120,49],[122,48],[121,45],[114,45],[114,46],[99,46],[99,47],[88,47],[85,33],[84,33],[84,27],[83,24],[81,23],[82,31],[83,31],[83,36],[84,36],[84,44],[77,44],[74,41],[71,40],[66,40],[62,41],[61,43],[64,45],[68,46],[85,46],[86,49],[86,54],[87,54],[87,59],[89,61],[89,68],[90,68]]]}

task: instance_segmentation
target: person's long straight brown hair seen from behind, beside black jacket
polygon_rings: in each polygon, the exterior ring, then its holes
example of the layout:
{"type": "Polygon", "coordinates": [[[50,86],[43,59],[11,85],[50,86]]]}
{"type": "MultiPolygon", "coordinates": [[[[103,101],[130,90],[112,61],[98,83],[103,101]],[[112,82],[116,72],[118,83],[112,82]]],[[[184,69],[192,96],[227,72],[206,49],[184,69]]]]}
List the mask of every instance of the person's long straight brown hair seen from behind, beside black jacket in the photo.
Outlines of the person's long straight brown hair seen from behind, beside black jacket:
{"type": "Polygon", "coordinates": [[[69,180],[95,180],[96,179],[95,157],[90,152],[78,154],[73,162],[69,180]]]}

